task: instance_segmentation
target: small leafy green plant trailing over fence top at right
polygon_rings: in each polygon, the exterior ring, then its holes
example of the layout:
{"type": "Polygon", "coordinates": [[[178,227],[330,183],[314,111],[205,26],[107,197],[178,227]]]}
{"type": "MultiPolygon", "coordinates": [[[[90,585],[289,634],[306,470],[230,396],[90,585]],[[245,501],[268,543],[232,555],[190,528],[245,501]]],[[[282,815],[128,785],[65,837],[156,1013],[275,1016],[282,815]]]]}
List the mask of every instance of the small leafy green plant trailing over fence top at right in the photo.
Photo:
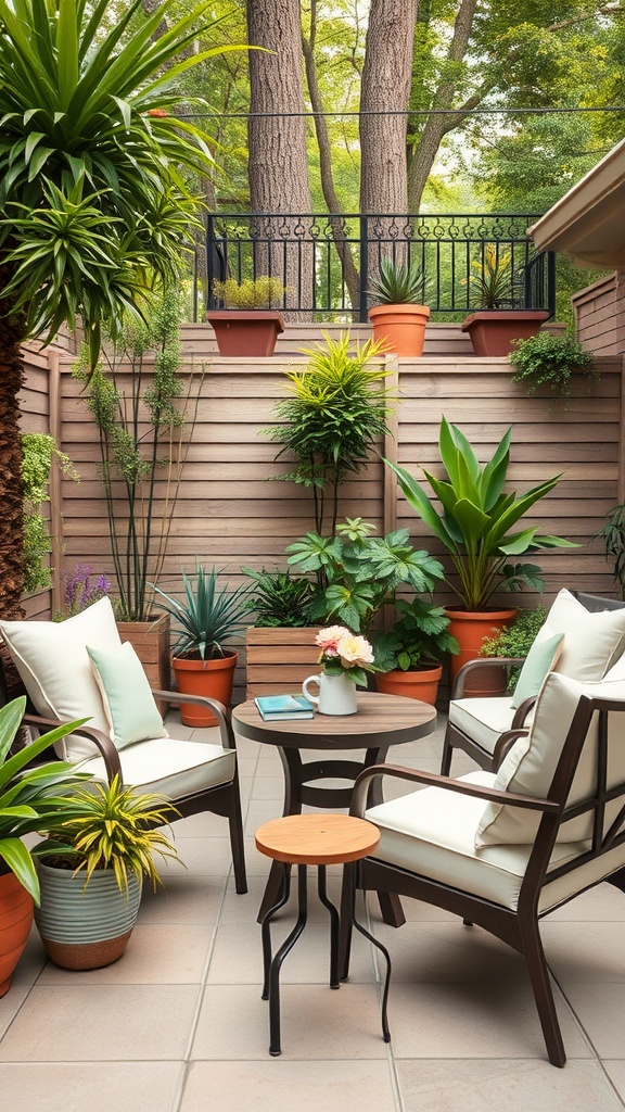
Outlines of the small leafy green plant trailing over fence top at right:
{"type": "Polygon", "coordinates": [[[513,383],[524,383],[528,394],[546,387],[552,405],[564,400],[565,408],[571,399],[573,375],[582,375],[588,386],[599,377],[595,357],[574,336],[553,336],[552,332],[513,340],[510,365],[515,368],[513,383]]]}

